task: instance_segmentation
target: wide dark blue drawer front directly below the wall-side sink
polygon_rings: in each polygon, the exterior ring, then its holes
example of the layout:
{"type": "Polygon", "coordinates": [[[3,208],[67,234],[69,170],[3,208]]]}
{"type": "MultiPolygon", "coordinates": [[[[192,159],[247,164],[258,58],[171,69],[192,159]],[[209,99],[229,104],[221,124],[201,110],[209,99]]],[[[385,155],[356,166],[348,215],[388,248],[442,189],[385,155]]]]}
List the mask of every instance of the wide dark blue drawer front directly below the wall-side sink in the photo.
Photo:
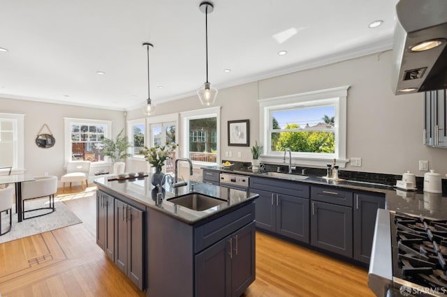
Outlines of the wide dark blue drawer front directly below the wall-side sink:
{"type": "MultiPolygon", "coordinates": [[[[278,194],[309,198],[309,185],[294,181],[281,181],[278,178],[250,178],[250,189],[259,189],[278,194]]],[[[256,190],[252,192],[256,193],[256,190]]]]}

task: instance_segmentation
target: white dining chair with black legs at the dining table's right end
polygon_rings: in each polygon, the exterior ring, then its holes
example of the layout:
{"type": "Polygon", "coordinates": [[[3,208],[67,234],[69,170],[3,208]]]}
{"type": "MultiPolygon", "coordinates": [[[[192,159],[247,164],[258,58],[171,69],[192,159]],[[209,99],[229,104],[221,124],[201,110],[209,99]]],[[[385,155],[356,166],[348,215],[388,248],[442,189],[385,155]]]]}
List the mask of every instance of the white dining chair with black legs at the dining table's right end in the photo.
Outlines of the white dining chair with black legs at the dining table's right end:
{"type": "Polygon", "coordinates": [[[54,194],[57,192],[57,176],[36,176],[34,181],[22,183],[22,217],[23,220],[47,215],[54,211],[54,194]],[[49,198],[49,204],[25,210],[25,201],[39,198],[49,198]],[[36,215],[25,218],[25,213],[48,209],[50,211],[39,212],[36,215]]]}

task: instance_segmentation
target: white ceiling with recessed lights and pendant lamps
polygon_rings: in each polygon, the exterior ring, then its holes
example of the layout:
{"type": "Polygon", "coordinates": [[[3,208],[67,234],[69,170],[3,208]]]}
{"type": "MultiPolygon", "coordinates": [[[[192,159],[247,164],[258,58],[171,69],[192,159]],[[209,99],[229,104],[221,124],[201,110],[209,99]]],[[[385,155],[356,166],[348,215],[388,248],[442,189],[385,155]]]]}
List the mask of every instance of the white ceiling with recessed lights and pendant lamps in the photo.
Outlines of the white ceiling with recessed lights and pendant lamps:
{"type": "MultiPolygon", "coordinates": [[[[195,94],[205,82],[200,0],[4,0],[0,97],[129,110],[195,94]],[[105,75],[96,74],[97,71],[105,75]],[[163,86],[159,89],[158,86],[163,86]]],[[[212,87],[253,82],[389,50],[397,0],[213,0],[212,87]],[[383,20],[369,29],[374,20],[383,20]],[[275,34],[294,32],[286,40],[275,34]],[[288,54],[279,56],[277,52],[288,54]],[[224,73],[224,69],[230,73],[224,73]]],[[[219,100],[219,95],[218,95],[219,100]]]]}

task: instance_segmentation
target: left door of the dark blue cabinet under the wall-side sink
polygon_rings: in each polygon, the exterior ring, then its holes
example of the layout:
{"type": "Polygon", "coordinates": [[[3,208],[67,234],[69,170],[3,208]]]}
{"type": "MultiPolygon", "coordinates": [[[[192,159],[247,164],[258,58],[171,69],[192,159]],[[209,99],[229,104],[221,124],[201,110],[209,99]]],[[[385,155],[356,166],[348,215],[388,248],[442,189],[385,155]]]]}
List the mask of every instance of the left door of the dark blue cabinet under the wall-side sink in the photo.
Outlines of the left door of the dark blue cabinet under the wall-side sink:
{"type": "Polygon", "coordinates": [[[276,222],[273,200],[276,199],[276,194],[263,190],[251,191],[259,194],[259,198],[255,200],[256,227],[274,232],[276,222]]]}

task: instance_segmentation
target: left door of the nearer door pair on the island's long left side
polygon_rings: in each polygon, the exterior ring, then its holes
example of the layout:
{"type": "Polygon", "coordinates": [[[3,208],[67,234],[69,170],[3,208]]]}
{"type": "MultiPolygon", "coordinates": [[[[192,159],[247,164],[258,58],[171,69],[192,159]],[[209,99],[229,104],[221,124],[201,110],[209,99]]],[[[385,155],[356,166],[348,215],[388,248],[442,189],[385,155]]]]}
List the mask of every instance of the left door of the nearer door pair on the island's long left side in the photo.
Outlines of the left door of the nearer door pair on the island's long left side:
{"type": "Polygon", "coordinates": [[[115,264],[127,274],[127,204],[115,199],[115,264]]]}

